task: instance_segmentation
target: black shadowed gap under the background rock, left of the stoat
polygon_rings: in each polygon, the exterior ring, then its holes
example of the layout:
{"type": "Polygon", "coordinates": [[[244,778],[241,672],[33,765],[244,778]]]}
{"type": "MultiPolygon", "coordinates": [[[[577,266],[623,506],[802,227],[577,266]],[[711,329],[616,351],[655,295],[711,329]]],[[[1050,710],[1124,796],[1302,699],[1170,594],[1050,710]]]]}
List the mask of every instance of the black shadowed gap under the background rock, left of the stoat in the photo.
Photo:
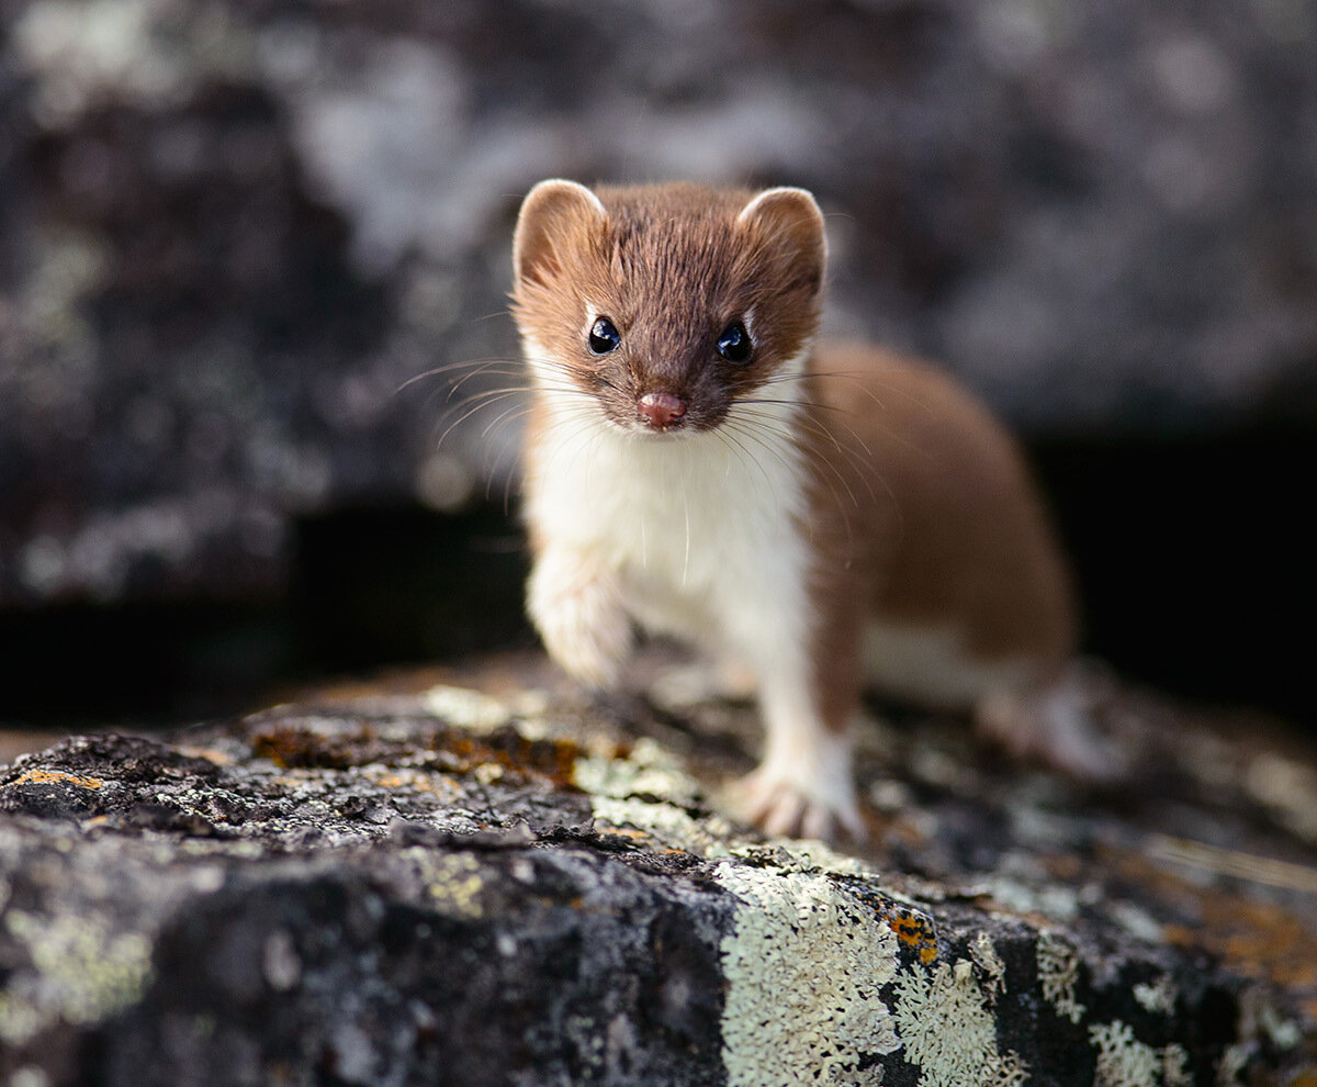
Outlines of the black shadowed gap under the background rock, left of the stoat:
{"type": "Polygon", "coordinates": [[[300,684],[532,644],[500,510],[358,510],[298,526],[267,603],[0,610],[0,725],[144,727],[244,713],[300,684]]]}

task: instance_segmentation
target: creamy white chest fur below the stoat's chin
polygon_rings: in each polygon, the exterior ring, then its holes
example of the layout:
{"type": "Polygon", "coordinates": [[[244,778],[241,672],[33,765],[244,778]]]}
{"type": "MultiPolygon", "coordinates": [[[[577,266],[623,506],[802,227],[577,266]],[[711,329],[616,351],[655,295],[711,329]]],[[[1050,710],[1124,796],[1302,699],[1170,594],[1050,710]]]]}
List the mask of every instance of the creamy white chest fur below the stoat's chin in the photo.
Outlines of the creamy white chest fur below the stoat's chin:
{"type": "Polygon", "coordinates": [[[766,424],[734,411],[718,431],[645,435],[547,403],[527,513],[553,545],[616,572],[635,619],[743,657],[807,625],[789,406],[766,424]]]}

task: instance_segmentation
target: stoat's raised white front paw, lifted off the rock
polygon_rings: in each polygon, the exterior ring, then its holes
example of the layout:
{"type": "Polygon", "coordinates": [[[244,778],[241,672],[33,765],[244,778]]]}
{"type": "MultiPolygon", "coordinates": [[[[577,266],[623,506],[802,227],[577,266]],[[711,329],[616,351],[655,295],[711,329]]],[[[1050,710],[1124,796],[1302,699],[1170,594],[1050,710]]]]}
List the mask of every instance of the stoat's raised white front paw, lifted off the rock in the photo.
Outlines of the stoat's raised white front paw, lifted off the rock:
{"type": "Polygon", "coordinates": [[[562,671],[591,688],[616,686],[633,632],[615,573],[545,555],[531,574],[527,610],[562,671]]]}

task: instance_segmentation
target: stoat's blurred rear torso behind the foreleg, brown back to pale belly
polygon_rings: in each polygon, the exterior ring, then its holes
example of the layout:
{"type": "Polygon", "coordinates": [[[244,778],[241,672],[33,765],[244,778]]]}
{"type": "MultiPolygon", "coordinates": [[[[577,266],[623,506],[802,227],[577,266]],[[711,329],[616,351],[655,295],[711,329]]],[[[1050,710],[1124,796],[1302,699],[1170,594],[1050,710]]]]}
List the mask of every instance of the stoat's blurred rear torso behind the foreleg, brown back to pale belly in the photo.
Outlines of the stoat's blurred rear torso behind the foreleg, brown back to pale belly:
{"type": "MultiPolygon", "coordinates": [[[[971,708],[998,677],[1054,675],[1076,650],[1073,584],[1014,439],[930,364],[823,343],[814,369],[817,523],[834,568],[869,572],[871,679],[971,708]],[[936,654],[961,675],[922,675],[936,654]]],[[[827,569],[824,586],[855,590],[827,569]]]]}

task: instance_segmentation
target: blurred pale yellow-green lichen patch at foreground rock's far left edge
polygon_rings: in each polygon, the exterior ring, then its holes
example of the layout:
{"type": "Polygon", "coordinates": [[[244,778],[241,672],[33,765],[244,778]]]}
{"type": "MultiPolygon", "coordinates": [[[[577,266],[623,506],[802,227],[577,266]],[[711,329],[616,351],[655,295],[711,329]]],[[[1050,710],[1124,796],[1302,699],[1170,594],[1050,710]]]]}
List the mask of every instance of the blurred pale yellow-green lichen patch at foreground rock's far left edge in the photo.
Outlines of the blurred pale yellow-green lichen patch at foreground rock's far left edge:
{"type": "Polygon", "coordinates": [[[0,1040],[11,1045],[61,1020],[99,1022],[137,1000],[150,978],[148,938],[111,934],[101,920],[11,910],[5,926],[33,966],[0,991],[0,1040]]]}

